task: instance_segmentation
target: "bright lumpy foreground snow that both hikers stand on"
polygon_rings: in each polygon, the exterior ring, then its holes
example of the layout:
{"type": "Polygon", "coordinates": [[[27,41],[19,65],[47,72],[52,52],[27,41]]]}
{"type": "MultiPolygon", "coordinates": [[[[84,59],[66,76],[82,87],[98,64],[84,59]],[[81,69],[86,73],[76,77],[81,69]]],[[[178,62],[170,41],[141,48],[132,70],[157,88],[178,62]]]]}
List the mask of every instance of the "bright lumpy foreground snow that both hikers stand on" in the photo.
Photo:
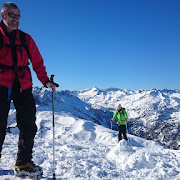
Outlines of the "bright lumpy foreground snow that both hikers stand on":
{"type": "MultiPolygon", "coordinates": [[[[58,180],[180,180],[180,150],[132,135],[128,135],[129,146],[124,140],[117,144],[116,131],[63,112],[55,113],[55,122],[58,180]]],[[[52,113],[38,111],[37,126],[33,160],[43,167],[43,179],[48,180],[53,171],[52,113]]],[[[17,142],[18,130],[14,128],[3,146],[2,180],[15,179],[17,142]]]]}

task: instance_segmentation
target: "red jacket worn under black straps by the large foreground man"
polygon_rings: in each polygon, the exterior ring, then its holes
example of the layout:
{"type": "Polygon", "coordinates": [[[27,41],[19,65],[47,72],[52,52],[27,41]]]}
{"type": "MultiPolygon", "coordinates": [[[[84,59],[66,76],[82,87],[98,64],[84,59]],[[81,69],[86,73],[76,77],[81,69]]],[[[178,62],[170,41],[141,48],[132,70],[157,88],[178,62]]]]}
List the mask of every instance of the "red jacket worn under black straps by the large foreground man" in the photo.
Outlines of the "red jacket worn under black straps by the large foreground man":
{"type": "MultiPolygon", "coordinates": [[[[3,23],[0,22],[0,31],[3,34],[4,44],[10,44],[8,36],[5,34],[3,30],[3,23]]],[[[33,70],[36,72],[38,79],[45,86],[45,83],[49,80],[47,77],[46,68],[44,66],[44,61],[41,57],[41,54],[29,34],[25,35],[26,43],[29,50],[29,58],[32,63],[33,70]]],[[[16,45],[21,45],[19,30],[16,30],[16,45]]],[[[17,46],[17,66],[25,66],[28,63],[28,54],[24,47],[17,46]]],[[[12,50],[10,47],[2,47],[0,48],[0,63],[6,66],[13,66],[13,57],[12,50]]],[[[21,89],[25,90],[27,88],[32,87],[32,76],[30,72],[30,68],[25,68],[23,70],[17,71],[18,80],[21,85],[21,89]]],[[[13,82],[15,79],[15,71],[12,70],[1,70],[0,69],[0,86],[12,88],[13,82]]]]}

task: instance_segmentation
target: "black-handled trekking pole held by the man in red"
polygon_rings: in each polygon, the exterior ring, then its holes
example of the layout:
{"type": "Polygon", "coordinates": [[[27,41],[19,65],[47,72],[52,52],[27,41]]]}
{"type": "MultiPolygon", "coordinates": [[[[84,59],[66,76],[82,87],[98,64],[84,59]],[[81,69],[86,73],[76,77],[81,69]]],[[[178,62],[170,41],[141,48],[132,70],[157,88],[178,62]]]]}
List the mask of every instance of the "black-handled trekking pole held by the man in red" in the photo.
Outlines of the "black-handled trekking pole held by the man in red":
{"type": "MultiPolygon", "coordinates": [[[[51,82],[54,83],[54,75],[51,75],[50,78],[51,82]]],[[[54,83],[56,85],[56,87],[59,87],[58,84],[54,83]]],[[[54,131],[54,127],[55,127],[55,122],[54,122],[54,92],[52,91],[52,115],[53,115],[53,180],[56,179],[56,174],[55,174],[55,143],[54,143],[54,139],[55,139],[55,131],[54,131]]]]}

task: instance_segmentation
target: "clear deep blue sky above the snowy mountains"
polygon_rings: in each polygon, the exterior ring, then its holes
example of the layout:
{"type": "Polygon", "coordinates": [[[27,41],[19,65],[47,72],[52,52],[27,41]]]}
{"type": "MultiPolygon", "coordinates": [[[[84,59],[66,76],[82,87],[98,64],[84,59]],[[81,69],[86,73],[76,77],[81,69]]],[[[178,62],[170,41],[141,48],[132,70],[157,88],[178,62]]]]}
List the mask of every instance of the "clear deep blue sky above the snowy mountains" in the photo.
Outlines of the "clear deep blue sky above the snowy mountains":
{"type": "Polygon", "coordinates": [[[180,0],[12,2],[59,90],[180,89],[180,0]]]}

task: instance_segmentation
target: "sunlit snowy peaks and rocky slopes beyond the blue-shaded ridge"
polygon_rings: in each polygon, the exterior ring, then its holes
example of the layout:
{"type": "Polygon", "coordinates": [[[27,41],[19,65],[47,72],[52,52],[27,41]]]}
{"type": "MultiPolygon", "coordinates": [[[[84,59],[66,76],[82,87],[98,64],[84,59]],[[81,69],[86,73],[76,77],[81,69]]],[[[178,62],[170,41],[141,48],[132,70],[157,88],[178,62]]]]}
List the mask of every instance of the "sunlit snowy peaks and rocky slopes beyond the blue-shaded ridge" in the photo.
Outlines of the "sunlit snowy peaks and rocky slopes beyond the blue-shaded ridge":
{"type": "MultiPolygon", "coordinates": [[[[127,110],[131,134],[180,149],[180,90],[93,88],[72,94],[106,113],[114,112],[121,104],[127,110]]],[[[106,121],[108,124],[109,119],[106,121]]]]}

